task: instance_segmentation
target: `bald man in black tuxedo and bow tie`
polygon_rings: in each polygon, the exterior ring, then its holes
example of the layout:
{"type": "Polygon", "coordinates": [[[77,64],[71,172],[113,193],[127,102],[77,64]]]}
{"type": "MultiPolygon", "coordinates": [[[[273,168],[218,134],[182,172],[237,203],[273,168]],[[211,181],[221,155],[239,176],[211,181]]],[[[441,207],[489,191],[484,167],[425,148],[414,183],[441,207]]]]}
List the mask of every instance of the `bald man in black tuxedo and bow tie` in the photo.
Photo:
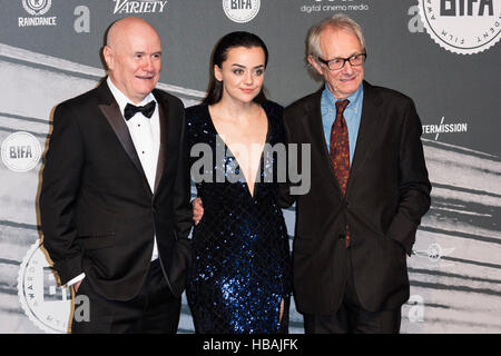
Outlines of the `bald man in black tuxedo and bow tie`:
{"type": "Polygon", "coordinates": [[[145,20],[116,21],[102,55],[108,77],[55,110],[43,246],[89,297],[72,333],[175,333],[190,256],[184,107],[155,89],[161,42],[145,20]]]}

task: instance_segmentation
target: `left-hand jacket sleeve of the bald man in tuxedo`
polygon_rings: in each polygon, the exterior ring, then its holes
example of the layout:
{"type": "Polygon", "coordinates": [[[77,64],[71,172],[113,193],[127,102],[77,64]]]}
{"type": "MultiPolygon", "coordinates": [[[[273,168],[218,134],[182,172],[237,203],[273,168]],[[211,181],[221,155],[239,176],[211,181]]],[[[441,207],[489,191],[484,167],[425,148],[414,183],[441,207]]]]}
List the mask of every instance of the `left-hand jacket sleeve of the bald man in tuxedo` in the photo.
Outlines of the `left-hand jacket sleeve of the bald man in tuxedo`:
{"type": "Polygon", "coordinates": [[[84,159],[78,122],[70,108],[60,105],[53,113],[39,202],[43,246],[62,285],[82,273],[75,209],[84,159]]]}

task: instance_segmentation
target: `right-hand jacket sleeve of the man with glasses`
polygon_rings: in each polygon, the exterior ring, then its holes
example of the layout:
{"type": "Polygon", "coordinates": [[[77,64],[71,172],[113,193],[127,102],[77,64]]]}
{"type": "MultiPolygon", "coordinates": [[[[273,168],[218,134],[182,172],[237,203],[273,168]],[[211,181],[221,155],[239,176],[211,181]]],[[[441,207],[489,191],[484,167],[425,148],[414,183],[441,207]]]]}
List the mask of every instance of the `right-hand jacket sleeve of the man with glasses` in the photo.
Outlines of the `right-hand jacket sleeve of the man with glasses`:
{"type": "Polygon", "coordinates": [[[399,208],[387,235],[411,255],[421,218],[430,209],[431,185],[421,142],[422,126],[410,102],[402,122],[399,152],[399,208]]]}

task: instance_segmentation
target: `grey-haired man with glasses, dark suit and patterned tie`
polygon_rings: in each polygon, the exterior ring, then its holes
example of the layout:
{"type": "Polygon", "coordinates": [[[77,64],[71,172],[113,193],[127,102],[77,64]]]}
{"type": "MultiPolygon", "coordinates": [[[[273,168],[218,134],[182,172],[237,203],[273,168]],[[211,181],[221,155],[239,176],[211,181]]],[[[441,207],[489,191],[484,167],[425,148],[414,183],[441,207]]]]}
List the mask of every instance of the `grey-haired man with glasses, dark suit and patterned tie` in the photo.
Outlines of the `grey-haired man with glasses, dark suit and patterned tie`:
{"type": "Polygon", "coordinates": [[[325,87],[284,118],[289,142],[312,151],[311,190],[284,192],[284,205],[296,199],[296,307],[306,333],[399,333],[406,255],[430,208],[420,118],[409,97],[364,81],[365,41],[351,18],[315,24],[307,46],[325,87]]]}

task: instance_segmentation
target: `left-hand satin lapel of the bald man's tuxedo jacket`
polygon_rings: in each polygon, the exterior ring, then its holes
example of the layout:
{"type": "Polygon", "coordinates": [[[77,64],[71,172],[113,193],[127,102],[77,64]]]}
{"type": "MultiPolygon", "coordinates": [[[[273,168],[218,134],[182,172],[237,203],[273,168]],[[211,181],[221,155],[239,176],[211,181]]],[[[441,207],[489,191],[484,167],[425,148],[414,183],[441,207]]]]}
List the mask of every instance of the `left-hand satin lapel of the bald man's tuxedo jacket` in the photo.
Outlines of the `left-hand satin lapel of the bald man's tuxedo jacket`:
{"type": "Polygon", "coordinates": [[[106,83],[106,80],[99,86],[99,96],[101,98],[101,102],[99,103],[99,109],[102,115],[108,120],[109,125],[114,129],[115,134],[118,137],[121,146],[124,147],[127,156],[132,160],[134,165],[141,174],[145,181],[148,181],[146,178],[145,171],[143,170],[141,161],[139,160],[139,156],[137,156],[136,148],[132,142],[132,138],[130,137],[129,128],[124,120],[124,116],[120,112],[120,108],[115,100],[111,91],[106,83]]]}

